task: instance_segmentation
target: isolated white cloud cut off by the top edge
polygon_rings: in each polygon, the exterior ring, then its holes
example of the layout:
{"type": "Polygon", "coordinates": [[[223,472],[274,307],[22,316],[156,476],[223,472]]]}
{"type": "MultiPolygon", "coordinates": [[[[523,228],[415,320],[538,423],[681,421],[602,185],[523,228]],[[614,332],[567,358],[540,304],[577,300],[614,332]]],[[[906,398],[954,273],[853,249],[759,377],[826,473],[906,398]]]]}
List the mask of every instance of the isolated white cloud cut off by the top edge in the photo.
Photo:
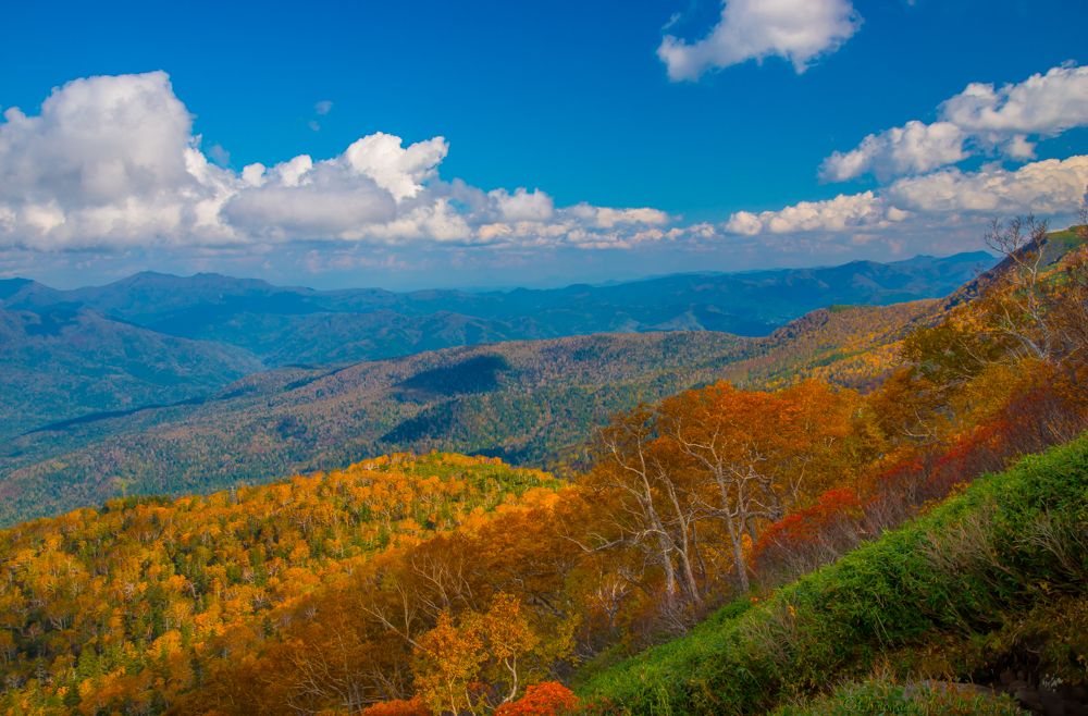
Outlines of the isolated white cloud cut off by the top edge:
{"type": "Polygon", "coordinates": [[[850,0],[724,0],[721,22],[707,37],[689,45],[667,35],[657,57],[672,82],[768,57],[792,62],[800,74],[838,50],[861,22],[850,0]]]}

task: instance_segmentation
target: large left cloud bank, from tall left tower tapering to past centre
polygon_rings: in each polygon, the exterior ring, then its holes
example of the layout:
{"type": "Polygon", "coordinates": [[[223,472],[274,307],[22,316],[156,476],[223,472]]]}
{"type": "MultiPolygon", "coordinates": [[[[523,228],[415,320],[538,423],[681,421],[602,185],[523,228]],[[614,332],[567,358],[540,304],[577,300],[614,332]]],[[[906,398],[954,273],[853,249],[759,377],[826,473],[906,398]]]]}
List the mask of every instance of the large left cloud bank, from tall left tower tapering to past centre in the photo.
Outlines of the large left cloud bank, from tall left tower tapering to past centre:
{"type": "Polygon", "coordinates": [[[655,209],[556,209],[540,189],[484,192],[442,182],[438,165],[449,151],[443,137],[405,147],[400,137],[378,132],[331,159],[301,155],[235,172],[222,147],[201,151],[193,118],[163,72],[77,79],[54,89],[40,115],[12,108],[4,119],[0,247],[294,240],[622,247],[660,238],[655,227],[671,221],[655,209]]]}

